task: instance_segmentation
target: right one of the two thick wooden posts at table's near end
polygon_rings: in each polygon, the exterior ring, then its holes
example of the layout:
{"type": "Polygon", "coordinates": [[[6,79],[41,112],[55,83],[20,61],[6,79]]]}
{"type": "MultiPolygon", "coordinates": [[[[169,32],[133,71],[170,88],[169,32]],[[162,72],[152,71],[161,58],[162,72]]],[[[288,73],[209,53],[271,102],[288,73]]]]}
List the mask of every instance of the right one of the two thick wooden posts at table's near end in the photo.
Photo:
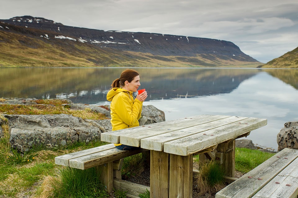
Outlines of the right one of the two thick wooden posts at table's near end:
{"type": "Polygon", "coordinates": [[[192,197],[192,155],[170,154],[169,197],[192,197]]]}

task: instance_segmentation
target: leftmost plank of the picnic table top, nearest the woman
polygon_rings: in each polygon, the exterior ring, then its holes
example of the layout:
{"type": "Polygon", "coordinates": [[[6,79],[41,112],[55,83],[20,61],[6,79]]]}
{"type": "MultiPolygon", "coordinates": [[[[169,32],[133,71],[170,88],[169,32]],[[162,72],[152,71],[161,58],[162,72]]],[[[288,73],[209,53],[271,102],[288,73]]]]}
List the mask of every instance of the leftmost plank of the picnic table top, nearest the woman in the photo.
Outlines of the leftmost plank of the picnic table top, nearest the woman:
{"type": "MultiPolygon", "coordinates": [[[[101,133],[101,141],[104,142],[111,142],[115,144],[120,143],[120,135],[123,136],[125,134],[128,134],[128,136],[132,133],[137,133],[139,134],[140,132],[146,132],[147,130],[152,130],[152,129],[160,129],[163,126],[168,127],[172,126],[174,124],[179,124],[179,123],[196,123],[196,120],[201,120],[201,119],[208,119],[212,117],[228,117],[228,116],[216,116],[216,115],[197,115],[197,116],[192,116],[192,117],[187,117],[187,118],[180,118],[177,120],[169,120],[165,122],[160,122],[160,123],[153,123],[153,124],[148,124],[146,126],[139,126],[139,127],[132,127],[132,128],[127,128],[127,129],[121,129],[117,131],[109,131],[105,133],[101,133]]],[[[166,128],[167,129],[167,128],[166,128]]],[[[137,146],[139,147],[139,146],[137,146]]]]}

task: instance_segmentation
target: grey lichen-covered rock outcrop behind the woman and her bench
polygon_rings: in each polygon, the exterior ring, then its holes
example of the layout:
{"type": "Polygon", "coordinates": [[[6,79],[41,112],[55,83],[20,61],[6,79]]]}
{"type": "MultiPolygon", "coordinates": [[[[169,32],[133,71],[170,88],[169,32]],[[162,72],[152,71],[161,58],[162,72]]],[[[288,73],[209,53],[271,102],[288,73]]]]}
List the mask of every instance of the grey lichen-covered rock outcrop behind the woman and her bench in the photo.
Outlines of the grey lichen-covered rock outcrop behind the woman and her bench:
{"type": "MultiPolygon", "coordinates": [[[[7,100],[10,104],[20,104],[20,100],[7,100]]],[[[21,100],[27,104],[28,100],[21,100]]],[[[31,103],[30,103],[31,104],[31,103]]],[[[110,111],[97,105],[65,104],[72,109],[89,108],[110,117],[110,111]]],[[[10,128],[10,144],[20,152],[32,148],[63,148],[77,142],[100,140],[100,134],[111,131],[110,119],[89,120],[68,114],[55,115],[3,115],[10,128]]],[[[4,123],[0,118],[0,123],[4,123]]],[[[165,114],[153,105],[143,106],[140,125],[165,121],[165,114]]],[[[1,125],[0,125],[1,126],[1,125]]],[[[2,128],[0,127],[0,136],[2,128]]]]}

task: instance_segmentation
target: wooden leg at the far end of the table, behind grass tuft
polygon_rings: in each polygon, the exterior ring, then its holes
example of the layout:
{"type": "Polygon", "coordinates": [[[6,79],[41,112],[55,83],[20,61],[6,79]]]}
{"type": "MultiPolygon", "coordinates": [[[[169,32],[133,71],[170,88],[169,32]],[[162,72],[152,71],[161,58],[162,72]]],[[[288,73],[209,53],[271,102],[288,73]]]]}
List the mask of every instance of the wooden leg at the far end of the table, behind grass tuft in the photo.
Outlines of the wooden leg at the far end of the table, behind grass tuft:
{"type": "Polygon", "coordinates": [[[218,144],[217,151],[223,153],[223,164],[226,176],[235,177],[235,140],[218,144]]]}

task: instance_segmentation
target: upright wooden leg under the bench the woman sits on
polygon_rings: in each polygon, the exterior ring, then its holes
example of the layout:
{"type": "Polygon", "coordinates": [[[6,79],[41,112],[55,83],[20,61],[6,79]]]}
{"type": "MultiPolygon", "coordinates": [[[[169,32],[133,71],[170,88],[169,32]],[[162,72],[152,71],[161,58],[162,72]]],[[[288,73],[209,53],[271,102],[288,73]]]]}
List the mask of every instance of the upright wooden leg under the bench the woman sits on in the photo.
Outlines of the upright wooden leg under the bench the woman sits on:
{"type": "Polygon", "coordinates": [[[107,192],[111,193],[113,191],[113,162],[96,166],[96,170],[97,174],[100,175],[102,184],[106,186],[107,192]]]}

